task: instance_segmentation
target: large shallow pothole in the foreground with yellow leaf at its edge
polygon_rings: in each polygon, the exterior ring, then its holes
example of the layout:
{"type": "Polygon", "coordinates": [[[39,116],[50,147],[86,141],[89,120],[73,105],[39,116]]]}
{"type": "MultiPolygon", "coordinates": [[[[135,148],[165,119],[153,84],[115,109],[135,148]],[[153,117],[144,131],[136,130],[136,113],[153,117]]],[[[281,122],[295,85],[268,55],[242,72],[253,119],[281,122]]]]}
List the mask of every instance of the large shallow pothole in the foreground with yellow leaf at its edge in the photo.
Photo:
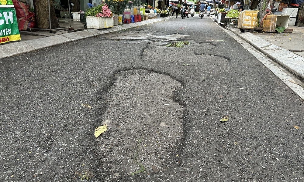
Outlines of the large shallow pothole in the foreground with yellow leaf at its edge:
{"type": "Polygon", "coordinates": [[[105,180],[112,181],[115,173],[131,175],[143,168],[144,173],[153,173],[170,166],[178,160],[183,135],[183,107],[173,99],[181,84],[146,70],[121,71],[115,76],[105,98],[111,101],[102,114],[108,130],[97,138],[105,156],[102,168],[109,174],[105,180]]]}

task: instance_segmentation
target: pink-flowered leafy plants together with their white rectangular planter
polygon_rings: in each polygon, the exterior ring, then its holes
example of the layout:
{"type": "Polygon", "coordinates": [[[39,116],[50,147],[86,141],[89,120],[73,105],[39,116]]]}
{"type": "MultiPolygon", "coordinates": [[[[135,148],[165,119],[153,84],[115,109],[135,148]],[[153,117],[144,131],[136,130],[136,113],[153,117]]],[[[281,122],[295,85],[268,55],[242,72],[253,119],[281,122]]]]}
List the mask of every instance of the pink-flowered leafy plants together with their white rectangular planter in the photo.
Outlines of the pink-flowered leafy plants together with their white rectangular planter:
{"type": "Polygon", "coordinates": [[[113,14],[107,4],[89,8],[85,16],[89,29],[105,29],[114,26],[113,14]]]}

